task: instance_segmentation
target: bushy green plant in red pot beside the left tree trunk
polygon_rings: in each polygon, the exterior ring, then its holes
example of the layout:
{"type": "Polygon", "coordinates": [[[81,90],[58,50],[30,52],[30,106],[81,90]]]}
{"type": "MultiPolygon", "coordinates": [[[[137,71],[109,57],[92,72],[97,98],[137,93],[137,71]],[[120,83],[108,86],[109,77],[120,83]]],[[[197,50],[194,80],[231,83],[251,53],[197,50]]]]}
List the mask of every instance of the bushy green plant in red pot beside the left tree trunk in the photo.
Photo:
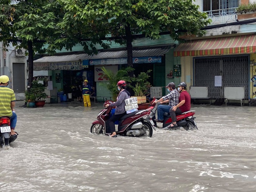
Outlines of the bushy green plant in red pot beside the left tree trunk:
{"type": "Polygon", "coordinates": [[[36,107],[43,107],[45,105],[45,86],[42,83],[38,83],[38,80],[32,82],[32,87],[25,92],[27,102],[35,102],[36,107]],[[29,101],[30,100],[30,101],[29,101]]]}

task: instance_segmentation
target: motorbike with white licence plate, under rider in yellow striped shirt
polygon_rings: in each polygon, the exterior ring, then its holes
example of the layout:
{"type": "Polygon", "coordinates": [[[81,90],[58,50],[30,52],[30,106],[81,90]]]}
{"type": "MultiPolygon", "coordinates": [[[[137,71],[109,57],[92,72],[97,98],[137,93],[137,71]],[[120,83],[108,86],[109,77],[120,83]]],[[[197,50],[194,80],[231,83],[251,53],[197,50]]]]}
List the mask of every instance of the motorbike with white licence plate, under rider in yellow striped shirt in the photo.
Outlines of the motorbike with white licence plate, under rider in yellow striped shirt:
{"type": "Polygon", "coordinates": [[[2,147],[14,142],[17,135],[19,135],[18,133],[16,135],[10,135],[10,131],[10,118],[7,116],[0,117],[0,145],[2,147]]]}

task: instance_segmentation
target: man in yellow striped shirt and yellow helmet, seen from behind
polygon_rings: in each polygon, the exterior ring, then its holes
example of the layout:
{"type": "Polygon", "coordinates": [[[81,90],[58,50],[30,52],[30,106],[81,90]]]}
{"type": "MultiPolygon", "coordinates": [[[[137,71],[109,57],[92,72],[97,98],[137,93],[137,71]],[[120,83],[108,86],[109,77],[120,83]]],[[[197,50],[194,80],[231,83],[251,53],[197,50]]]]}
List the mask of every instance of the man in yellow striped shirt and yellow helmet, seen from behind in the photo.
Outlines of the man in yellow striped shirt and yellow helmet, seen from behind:
{"type": "Polygon", "coordinates": [[[9,77],[6,75],[0,76],[0,117],[10,117],[10,135],[16,135],[14,132],[17,123],[17,115],[15,113],[15,95],[14,91],[7,86],[9,85],[9,77]]]}

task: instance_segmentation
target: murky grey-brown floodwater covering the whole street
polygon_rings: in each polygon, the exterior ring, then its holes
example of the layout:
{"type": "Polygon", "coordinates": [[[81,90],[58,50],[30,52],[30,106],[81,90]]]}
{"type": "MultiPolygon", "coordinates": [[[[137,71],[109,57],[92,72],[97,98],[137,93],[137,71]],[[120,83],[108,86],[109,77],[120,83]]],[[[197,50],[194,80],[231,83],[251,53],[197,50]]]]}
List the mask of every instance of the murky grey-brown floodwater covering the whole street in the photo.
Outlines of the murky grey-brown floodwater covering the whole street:
{"type": "Polygon", "coordinates": [[[22,108],[0,148],[0,192],[255,192],[255,106],[193,105],[198,131],[92,135],[102,104],[22,108]]]}

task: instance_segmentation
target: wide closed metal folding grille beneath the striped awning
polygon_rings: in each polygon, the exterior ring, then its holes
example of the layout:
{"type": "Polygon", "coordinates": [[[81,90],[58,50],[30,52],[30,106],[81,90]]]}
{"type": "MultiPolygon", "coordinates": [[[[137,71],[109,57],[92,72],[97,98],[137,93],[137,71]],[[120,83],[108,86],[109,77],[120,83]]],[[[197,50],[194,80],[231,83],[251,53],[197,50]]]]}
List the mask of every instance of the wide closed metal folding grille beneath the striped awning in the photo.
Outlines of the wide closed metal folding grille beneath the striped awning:
{"type": "Polygon", "coordinates": [[[223,99],[225,86],[244,86],[248,98],[249,56],[208,57],[194,59],[194,86],[208,86],[212,99],[223,99]],[[215,76],[222,76],[222,86],[214,86],[215,76]]]}

